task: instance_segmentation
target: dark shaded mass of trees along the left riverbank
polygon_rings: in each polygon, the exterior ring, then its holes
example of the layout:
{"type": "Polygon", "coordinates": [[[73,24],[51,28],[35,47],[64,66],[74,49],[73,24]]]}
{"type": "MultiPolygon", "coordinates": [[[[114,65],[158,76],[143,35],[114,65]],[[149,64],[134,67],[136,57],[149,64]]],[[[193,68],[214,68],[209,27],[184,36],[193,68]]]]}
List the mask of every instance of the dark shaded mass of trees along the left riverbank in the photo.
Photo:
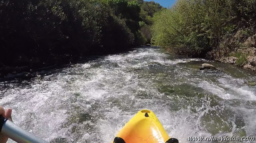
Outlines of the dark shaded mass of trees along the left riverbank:
{"type": "Polygon", "coordinates": [[[141,40],[128,0],[1,0],[0,67],[120,51],[141,40]]]}

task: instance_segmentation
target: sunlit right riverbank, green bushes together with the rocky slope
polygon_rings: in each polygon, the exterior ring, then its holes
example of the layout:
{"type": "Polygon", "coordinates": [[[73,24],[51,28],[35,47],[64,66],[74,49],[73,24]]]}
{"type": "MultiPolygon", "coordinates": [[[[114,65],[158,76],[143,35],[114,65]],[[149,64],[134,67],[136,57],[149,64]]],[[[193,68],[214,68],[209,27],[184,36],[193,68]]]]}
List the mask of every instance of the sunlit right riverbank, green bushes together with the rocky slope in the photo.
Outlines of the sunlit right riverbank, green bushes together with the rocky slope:
{"type": "Polygon", "coordinates": [[[153,17],[154,45],[256,72],[255,0],[178,0],[153,17]]]}

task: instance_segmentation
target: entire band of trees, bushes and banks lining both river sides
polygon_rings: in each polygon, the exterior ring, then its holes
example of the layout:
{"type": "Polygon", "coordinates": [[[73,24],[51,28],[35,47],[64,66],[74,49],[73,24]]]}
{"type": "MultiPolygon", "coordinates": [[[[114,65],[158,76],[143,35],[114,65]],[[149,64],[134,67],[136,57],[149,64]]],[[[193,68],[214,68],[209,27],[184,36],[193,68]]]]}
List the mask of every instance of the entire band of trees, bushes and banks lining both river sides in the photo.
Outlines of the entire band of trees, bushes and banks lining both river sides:
{"type": "Polygon", "coordinates": [[[255,3],[2,0],[0,77],[148,43],[256,71],[255,3]]]}

